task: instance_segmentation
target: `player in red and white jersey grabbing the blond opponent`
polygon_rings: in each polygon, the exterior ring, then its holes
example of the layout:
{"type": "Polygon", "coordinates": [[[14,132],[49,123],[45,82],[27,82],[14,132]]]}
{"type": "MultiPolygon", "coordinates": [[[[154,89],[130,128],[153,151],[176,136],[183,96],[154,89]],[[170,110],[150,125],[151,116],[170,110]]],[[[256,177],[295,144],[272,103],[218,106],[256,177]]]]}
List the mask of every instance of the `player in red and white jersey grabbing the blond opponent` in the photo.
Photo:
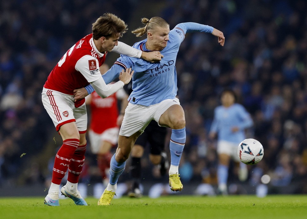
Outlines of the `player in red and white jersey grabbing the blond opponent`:
{"type": "Polygon", "coordinates": [[[60,183],[67,169],[68,180],[61,193],[72,198],[76,205],[87,205],[77,189],[85,158],[87,112],[85,100],[75,101],[73,90],[91,84],[97,94],[105,98],[129,83],[133,75],[131,68],[120,73],[118,82],[106,85],[99,67],[105,61],[107,52],[115,51],[148,61],[159,61],[163,57],[159,52],[148,55],[118,42],[126,30],[127,25],[119,17],[111,13],[103,14],[92,24],[92,33],[74,44],[48,76],[42,91],[42,102],[56,131],[62,136],[63,145],[54,161],[46,205],[59,206],[60,183]]]}

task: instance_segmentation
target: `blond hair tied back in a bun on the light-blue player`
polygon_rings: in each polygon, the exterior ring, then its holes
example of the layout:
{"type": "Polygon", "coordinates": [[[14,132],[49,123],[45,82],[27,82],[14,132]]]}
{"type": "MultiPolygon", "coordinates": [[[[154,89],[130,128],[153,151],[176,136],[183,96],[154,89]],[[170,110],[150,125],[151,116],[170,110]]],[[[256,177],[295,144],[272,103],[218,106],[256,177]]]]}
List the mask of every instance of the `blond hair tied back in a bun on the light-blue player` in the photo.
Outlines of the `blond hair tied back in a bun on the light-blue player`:
{"type": "Polygon", "coordinates": [[[152,17],[150,20],[144,17],[142,18],[142,23],[145,24],[145,27],[140,27],[132,31],[138,37],[143,36],[149,30],[155,30],[159,27],[169,28],[169,24],[161,17],[152,17]]]}

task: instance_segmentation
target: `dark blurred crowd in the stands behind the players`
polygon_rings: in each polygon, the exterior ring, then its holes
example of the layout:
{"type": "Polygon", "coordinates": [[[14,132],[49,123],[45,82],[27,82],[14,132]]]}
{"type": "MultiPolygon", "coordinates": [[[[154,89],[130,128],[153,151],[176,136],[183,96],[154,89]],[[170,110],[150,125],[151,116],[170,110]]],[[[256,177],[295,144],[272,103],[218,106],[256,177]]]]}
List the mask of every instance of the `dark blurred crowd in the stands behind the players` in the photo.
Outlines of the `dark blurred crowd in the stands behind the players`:
{"type": "MultiPolygon", "coordinates": [[[[214,108],[220,105],[219,94],[228,87],[254,120],[247,136],[264,147],[262,161],[249,166],[247,183],[258,184],[268,174],[276,192],[291,186],[293,193],[307,193],[307,2],[166,0],[156,4],[144,12],[146,4],[138,0],[0,2],[0,186],[44,183],[50,177],[47,160],[54,159],[62,143],[54,144],[56,131],[41,103],[42,87],[63,54],[91,33],[91,23],[111,12],[128,27],[135,13],[163,17],[170,29],[191,21],[224,33],[224,47],[210,34],[188,33],[178,53],[178,95],[187,128],[180,165],[183,183],[216,183],[216,141],[208,140],[207,134],[214,108]],[[48,147],[53,147],[51,152],[48,147]],[[43,162],[38,157],[44,157],[43,162]]],[[[126,35],[131,33],[123,39],[126,35]]],[[[132,45],[139,40],[130,38],[122,41],[132,45]]],[[[96,163],[87,153],[91,169],[96,163]]],[[[155,176],[146,171],[152,167],[144,162],[144,180],[150,181],[155,176]]],[[[236,168],[233,164],[231,182],[237,181],[236,168]]],[[[84,170],[84,179],[98,179],[91,176],[93,171],[84,170]]]]}

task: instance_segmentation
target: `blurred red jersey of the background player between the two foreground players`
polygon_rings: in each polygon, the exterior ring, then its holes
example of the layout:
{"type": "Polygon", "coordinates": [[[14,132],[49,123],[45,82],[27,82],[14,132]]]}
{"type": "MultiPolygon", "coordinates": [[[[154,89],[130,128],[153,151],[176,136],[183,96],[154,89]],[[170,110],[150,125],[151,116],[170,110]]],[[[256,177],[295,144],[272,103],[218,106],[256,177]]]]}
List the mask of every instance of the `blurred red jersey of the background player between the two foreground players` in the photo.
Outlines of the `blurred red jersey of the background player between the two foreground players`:
{"type": "Polygon", "coordinates": [[[101,134],[106,129],[117,127],[118,107],[116,93],[101,98],[94,91],[91,93],[91,126],[95,133],[101,134]]]}

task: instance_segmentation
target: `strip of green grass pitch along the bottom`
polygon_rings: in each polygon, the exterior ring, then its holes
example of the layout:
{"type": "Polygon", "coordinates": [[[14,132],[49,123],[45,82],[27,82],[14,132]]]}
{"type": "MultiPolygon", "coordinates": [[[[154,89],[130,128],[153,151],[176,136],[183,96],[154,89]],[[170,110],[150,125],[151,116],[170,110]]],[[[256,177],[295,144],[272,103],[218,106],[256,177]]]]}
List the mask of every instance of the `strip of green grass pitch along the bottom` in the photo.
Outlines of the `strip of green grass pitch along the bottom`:
{"type": "Polygon", "coordinates": [[[0,218],[307,218],[306,195],[183,196],[157,199],[127,197],[113,199],[110,206],[97,206],[96,198],[86,198],[89,206],[76,206],[69,198],[60,207],[44,205],[40,198],[0,198],[0,218]]]}

